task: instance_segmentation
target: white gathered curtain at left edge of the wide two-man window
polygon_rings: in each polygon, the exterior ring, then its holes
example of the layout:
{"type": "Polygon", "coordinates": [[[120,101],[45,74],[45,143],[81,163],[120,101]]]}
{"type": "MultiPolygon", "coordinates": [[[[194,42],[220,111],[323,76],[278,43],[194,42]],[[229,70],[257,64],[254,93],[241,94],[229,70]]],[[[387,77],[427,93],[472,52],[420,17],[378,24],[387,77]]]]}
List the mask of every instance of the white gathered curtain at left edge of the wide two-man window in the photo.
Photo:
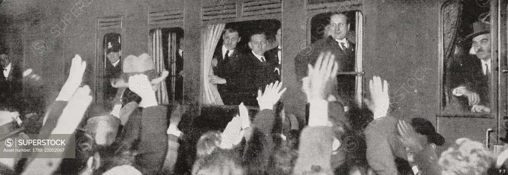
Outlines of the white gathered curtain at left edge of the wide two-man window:
{"type": "Polygon", "coordinates": [[[204,31],[202,31],[202,36],[204,36],[201,42],[203,45],[203,51],[201,53],[203,62],[203,103],[207,105],[224,105],[217,91],[217,85],[211,84],[208,76],[213,74],[213,69],[211,69],[213,52],[215,51],[215,47],[217,46],[225,26],[226,24],[212,24],[208,25],[204,31]]]}

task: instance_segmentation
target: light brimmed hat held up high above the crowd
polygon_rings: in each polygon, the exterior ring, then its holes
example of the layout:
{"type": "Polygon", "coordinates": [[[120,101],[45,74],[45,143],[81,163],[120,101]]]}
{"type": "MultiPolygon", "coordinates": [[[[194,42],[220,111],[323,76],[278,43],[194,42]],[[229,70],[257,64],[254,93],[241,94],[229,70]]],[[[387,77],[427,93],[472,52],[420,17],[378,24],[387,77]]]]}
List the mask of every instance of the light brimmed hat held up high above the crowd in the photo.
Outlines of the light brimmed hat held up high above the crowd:
{"type": "Polygon", "coordinates": [[[112,84],[113,87],[129,87],[129,77],[136,74],[147,75],[152,85],[162,82],[169,75],[169,72],[166,70],[160,74],[155,68],[152,58],[146,53],[137,57],[129,55],[123,60],[122,70],[122,78],[117,79],[112,84]]]}

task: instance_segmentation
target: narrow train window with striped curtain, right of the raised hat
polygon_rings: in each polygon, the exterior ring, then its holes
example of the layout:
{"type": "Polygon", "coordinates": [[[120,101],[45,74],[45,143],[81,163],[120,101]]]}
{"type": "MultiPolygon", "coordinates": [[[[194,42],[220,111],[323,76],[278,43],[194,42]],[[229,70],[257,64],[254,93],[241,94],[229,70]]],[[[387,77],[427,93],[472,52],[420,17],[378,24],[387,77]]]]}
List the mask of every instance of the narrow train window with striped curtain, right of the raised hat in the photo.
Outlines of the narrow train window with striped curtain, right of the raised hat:
{"type": "Polygon", "coordinates": [[[161,104],[182,102],[183,99],[183,29],[157,28],[150,30],[150,50],[159,72],[169,72],[156,95],[161,104]]]}

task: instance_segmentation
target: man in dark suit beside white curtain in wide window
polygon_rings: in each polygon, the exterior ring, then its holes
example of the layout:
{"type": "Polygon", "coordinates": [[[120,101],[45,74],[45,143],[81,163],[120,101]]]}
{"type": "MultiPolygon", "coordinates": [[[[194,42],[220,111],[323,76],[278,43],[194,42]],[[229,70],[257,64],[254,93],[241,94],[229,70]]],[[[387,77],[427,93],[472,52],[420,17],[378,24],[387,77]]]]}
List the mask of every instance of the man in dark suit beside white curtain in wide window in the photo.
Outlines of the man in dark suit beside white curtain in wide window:
{"type": "Polygon", "coordinates": [[[232,62],[238,57],[236,45],[240,41],[240,35],[235,28],[227,28],[223,34],[223,45],[215,50],[212,59],[212,69],[214,76],[210,77],[210,82],[217,84],[217,90],[225,105],[239,105],[234,103],[230,89],[236,89],[237,74],[235,69],[237,65],[232,62]]]}

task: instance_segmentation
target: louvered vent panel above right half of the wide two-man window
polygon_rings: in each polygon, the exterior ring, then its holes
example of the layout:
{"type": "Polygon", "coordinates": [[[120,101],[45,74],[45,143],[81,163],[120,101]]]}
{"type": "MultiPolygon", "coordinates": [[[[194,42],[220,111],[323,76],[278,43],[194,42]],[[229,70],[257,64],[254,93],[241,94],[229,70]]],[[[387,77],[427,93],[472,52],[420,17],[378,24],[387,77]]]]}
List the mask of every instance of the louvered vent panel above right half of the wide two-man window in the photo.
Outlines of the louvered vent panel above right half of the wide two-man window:
{"type": "Polygon", "coordinates": [[[266,15],[282,12],[280,0],[247,1],[242,4],[243,16],[266,15]]]}

